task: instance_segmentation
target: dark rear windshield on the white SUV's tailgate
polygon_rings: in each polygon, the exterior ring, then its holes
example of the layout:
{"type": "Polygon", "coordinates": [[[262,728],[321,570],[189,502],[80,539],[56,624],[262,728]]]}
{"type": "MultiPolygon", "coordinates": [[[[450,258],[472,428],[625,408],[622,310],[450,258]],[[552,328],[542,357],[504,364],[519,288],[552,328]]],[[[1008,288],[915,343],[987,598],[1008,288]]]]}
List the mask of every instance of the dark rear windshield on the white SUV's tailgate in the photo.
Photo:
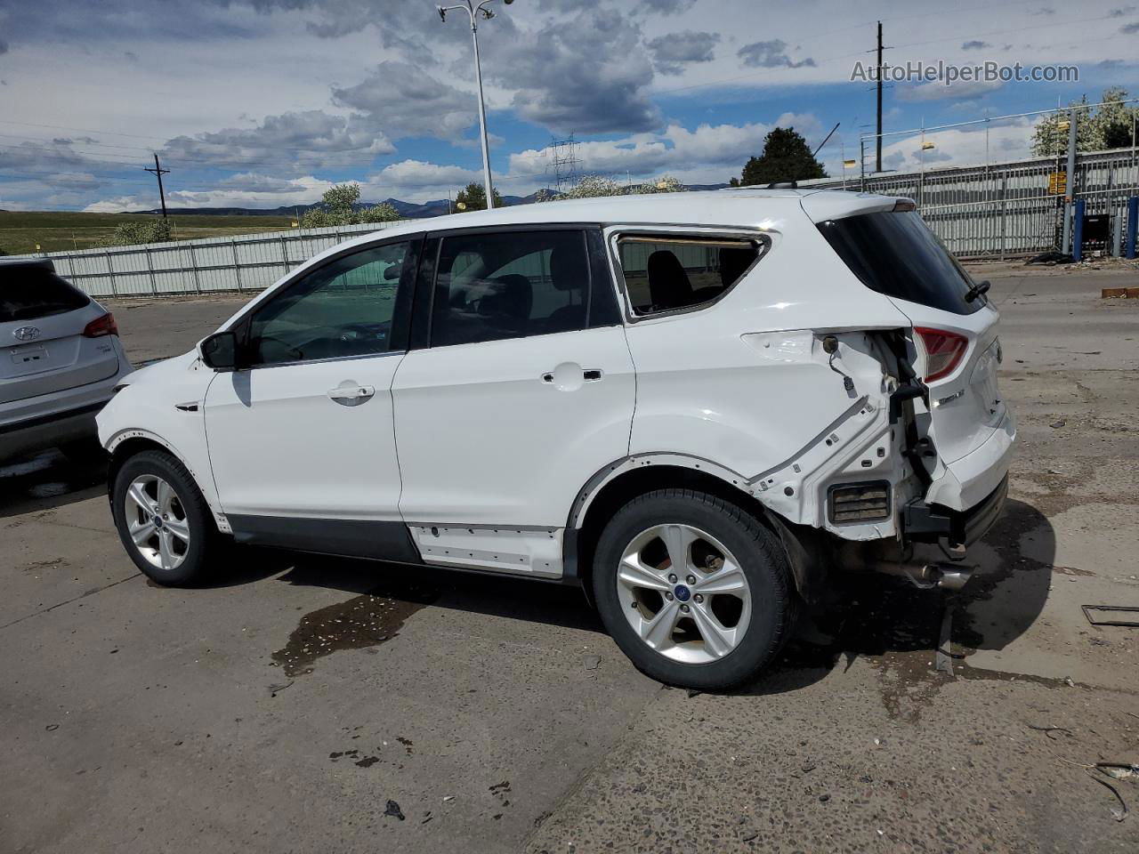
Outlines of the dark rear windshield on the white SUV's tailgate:
{"type": "Polygon", "coordinates": [[[819,230],[871,290],[954,314],[984,304],[965,301],[973,280],[913,211],[827,220],[819,230]]]}

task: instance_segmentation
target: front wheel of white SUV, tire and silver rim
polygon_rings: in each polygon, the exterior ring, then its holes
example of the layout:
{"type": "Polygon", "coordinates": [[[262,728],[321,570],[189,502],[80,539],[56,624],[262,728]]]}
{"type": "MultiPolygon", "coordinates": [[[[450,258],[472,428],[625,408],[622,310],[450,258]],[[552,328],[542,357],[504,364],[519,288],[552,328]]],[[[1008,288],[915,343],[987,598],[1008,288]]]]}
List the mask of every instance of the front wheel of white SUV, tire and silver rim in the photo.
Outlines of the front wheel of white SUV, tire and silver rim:
{"type": "Polygon", "coordinates": [[[210,507],[186,467],[163,451],[130,458],[115,476],[115,527],[131,560],[166,586],[207,576],[220,535],[210,507]]]}

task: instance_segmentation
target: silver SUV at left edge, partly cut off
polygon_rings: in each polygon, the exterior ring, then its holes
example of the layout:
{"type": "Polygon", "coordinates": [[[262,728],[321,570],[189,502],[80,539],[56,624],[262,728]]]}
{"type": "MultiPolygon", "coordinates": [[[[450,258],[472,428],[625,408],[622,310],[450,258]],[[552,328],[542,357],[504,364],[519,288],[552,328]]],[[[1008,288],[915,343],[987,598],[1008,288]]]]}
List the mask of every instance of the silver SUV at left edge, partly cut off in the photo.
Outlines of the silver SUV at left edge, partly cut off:
{"type": "Polygon", "coordinates": [[[114,315],[49,258],[0,260],[0,460],[98,453],[95,416],[130,371],[114,315]]]}

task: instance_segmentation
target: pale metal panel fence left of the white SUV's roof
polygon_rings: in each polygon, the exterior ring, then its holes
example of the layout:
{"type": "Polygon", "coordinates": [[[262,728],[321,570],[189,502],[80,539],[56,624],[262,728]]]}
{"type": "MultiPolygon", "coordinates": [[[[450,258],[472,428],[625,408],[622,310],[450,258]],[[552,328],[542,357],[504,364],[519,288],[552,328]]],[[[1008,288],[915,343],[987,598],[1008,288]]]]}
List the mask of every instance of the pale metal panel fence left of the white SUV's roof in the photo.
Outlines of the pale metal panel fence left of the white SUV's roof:
{"type": "MultiPolygon", "coordinates": [[[[262,290],[313,255],[395,222],[49,252],[56,272],[91,296],[262,290]]],[[[28,256],[32,257],[32,256],[28,256]]]]}

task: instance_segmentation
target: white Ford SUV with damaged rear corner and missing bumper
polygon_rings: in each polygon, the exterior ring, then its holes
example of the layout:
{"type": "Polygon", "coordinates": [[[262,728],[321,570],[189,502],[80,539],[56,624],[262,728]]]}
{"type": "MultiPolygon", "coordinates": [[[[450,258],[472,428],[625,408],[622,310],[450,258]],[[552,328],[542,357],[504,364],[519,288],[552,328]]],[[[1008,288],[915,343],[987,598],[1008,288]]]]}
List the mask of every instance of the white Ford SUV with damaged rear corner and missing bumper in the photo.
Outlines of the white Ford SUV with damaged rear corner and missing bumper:
{"type": "Polygon", "coordinates": [[[726,688],[829,567],[967,577],[1015,438],[985,290],[883,196],[410,222],[128,378],[115,523],[164,584],[223,535],[581,584],[646,673],[726,688]]]}

